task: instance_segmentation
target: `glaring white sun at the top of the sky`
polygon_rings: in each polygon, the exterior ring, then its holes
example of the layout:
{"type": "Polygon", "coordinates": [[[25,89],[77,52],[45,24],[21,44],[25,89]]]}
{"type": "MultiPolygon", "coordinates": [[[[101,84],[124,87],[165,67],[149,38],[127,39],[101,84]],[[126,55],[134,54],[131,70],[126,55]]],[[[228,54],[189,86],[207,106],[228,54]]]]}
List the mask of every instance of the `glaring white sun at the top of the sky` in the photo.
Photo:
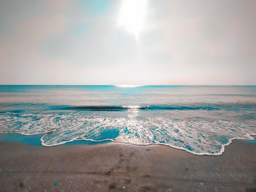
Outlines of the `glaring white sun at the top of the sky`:
{"type": "Polygon", "coordinates": [[[146,16],[146,0],[124,0],[121,4],[118,26],[124,27],[138,39],[143,31],[146,16]]]}

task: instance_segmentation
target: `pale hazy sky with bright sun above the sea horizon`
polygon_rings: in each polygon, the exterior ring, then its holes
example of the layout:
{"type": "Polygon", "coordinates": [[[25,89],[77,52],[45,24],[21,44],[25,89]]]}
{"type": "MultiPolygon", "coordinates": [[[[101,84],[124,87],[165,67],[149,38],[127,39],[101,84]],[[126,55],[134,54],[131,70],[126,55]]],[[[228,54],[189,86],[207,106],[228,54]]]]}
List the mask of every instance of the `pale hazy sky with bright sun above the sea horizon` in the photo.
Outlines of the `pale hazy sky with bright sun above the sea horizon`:
{"type": "Polygon", "coordinates": [[[256,85],[254,0],[1,0],[0,84],[256,85]]]}

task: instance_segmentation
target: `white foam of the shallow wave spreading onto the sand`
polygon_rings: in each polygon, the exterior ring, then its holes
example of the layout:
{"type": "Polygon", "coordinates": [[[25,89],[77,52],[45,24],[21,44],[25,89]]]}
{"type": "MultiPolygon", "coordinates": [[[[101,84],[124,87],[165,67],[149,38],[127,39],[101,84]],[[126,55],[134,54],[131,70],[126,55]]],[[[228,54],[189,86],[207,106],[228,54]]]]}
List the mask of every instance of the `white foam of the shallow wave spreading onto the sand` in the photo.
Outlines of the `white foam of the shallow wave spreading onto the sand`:
{"type": "Polygon", "coordinates": [[[226,111],[170,111],[165,115],[154,111],[22,115],[7,112],[1,115],[0,122],[1,133],[44,134],[44,146],[80,139],[111,140],[133,145],[168,145],[196,155],[221,155],[233,139],[253,139],[250,135],[256,134],[255,119],[243,120],[236,112],[226,111]],[[113,130],[119,131],[118,137],[107,135],[102,139],[106,131],[113,130]]]}

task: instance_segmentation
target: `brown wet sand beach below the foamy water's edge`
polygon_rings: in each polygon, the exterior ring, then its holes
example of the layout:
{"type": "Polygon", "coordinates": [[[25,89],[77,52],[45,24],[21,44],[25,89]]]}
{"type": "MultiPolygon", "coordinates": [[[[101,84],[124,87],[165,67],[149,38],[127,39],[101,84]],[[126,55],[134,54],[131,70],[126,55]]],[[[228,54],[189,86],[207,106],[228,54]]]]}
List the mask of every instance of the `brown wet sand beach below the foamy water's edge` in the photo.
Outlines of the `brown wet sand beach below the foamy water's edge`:
{"type": "Polygon", "coordinates": [[[256,145],[238,140],[220,156],[161,145],[17,142],[0,142],[0,154],[0,191],[256,191],[256,145]]]}

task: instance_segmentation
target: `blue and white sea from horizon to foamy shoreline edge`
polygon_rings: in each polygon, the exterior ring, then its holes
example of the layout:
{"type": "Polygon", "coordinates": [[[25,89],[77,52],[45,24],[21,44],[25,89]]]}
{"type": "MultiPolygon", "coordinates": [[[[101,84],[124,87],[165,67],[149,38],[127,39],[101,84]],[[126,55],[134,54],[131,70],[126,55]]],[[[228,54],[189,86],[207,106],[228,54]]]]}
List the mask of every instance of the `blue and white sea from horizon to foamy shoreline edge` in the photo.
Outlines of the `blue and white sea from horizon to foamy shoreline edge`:
{"type": "Polygon", "coordinates": [[[0,85],[0,133],[221,155],[256,135],[256,86],[0,85]]]}

